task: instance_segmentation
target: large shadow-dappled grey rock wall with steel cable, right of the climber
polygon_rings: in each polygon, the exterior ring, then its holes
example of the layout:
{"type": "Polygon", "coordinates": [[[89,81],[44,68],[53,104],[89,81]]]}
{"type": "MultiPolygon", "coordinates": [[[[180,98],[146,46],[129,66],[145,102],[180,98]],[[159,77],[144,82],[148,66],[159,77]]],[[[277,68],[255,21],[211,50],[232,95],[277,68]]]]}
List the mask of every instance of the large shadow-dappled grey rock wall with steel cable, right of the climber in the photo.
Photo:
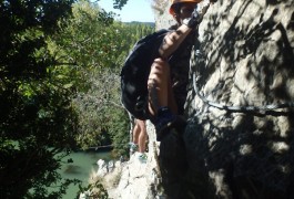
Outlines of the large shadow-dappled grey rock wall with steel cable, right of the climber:
{"type": "Polygon", "coordinates": [[[293,48],[293,0],[209,9],[192,52],[184,134],[189,180],[205,181],[195,198],[207,188],[212,198],[294,196],[293,48]]]}

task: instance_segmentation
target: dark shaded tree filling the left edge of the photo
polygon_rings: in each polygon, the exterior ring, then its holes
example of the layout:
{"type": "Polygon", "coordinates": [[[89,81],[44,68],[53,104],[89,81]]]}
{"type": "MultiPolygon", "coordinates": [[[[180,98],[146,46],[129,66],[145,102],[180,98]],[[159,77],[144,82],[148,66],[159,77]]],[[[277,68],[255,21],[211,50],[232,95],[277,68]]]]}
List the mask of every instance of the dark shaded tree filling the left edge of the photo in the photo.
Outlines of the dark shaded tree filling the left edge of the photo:
{"type": "Polygon", "coordinates": [[[74,133],[71,91],[52,82],[47,38],[71,13],[73,0],[0,2],[1,198],[58,198],[49,193],[60,175],[57,157],[74,133]]]}

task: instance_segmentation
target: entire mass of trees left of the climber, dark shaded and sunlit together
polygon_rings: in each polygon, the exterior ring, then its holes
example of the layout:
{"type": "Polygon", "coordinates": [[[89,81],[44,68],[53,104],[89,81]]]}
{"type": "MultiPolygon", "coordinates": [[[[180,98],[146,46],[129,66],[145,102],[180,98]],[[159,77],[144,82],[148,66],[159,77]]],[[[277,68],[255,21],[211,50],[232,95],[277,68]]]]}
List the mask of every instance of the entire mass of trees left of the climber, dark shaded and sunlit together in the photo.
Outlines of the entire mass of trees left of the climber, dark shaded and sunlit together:
{"type": "Polygon", "coordinates": [[[1,198],[61,198],[78,184],[57,172],[73,148],[113,144],[116,156],[126,153],[119,73],[130,48],[154,29],[73,2],[0,2],[1,198]]]}

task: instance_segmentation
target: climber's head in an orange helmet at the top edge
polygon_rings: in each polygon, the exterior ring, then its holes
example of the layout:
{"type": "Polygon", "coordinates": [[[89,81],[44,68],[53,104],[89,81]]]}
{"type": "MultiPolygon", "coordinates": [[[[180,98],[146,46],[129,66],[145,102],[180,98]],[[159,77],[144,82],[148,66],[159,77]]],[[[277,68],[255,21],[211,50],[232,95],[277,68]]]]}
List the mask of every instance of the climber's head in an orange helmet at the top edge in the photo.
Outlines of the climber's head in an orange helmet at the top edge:
{"type": "Polygon", "coordinates": [[[196,3],[202,0],[171,0],[170,14],[182,24],[183,20],[190,18],[196,3]]]}

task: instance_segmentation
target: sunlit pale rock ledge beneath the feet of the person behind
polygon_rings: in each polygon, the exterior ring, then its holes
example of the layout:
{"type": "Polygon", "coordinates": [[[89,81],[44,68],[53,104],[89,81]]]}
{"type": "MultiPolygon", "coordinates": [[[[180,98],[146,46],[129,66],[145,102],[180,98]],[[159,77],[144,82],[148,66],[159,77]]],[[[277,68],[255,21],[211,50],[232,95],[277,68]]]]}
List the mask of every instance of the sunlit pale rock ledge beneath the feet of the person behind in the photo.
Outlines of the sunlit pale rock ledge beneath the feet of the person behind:
{"type": "Polygon", "coordinates": [[[153,125],[148,121],[149,150],[148,161],[141,163],[138,153],[131,155],[128,161],[116,165],[108,170],[102,165],[97,175],[103,178],[103,186],[110,199],[154,199],[164,198],[161,187],[161,171],[158,161],[159,143],[155,142],[153,125]]]}

